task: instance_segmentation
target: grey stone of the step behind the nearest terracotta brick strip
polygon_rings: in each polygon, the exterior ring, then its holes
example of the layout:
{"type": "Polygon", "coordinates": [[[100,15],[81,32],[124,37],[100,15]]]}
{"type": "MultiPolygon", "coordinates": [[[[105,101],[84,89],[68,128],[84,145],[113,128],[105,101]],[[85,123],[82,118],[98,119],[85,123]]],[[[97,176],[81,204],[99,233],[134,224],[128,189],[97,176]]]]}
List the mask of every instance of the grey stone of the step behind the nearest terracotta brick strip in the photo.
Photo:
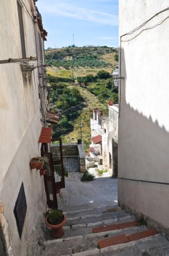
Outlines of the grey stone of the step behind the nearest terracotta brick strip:
{"type": "Polygon", "coordinates": [[[83,236],[72,236],[67,238],[61,238],[53,241],[47,241],[45,243],[46,249],[43,256],[47,255],[72,255],[74,253],[82,253],[87,249],[97,249],[97,242],[103,240],[103,238],[111,238],[119,234],[130,234],[147,230],[146,226],[135,226],[132,228],[125,228],[119,230],[111,230],[107,232],[86,234],[83,236]],[[53,253],[53,254],[52,254],[53,253]]]}

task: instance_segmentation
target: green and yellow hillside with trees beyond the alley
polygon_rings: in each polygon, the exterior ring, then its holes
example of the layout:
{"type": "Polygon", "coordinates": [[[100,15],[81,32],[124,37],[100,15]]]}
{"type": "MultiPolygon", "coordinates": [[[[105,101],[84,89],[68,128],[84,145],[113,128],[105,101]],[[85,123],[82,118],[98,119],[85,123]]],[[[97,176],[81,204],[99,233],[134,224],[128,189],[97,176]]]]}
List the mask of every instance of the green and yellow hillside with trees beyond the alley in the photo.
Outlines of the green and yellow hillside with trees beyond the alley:
{"type": "Polygon", "coordinates": [[[107,99],[117,101],[111,73],[117,65],[117,49],[107,46],[48,49],[49,96],[52,110],[60,110],[62,120],[53,126],[55,136],[65,142],[80,138],[87,150],[91,143],[90,118],[93,108],[107,113],[107,99]]]}

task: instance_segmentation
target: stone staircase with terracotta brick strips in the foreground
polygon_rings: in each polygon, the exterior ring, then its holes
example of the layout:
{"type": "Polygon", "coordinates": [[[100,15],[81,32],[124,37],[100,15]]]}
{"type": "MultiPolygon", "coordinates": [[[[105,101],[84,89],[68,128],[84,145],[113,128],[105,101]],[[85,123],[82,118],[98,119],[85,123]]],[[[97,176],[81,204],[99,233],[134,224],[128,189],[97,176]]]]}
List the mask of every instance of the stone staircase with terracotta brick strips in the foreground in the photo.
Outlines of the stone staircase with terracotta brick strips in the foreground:
{"type": "Polygon", "coordinates": [[[120,207],[65,212],[64,236],[44,242],[42,256],[169,255],[169,242],[120,207]]]}

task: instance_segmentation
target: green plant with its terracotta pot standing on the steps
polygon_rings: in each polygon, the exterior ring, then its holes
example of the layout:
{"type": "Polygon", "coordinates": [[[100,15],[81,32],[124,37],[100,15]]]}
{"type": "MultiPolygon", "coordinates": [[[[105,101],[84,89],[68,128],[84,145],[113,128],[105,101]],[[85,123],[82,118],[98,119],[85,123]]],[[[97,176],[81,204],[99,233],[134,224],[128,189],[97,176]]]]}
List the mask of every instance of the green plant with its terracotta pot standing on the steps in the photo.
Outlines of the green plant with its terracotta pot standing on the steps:
{"type": "Polygon", "coordinates": [[[45,224],[50,228],[50,236],[54,238],[60,238],[64,235],[64,226],[66,222],[66,216],[63,214],[62,210],[54,209],[48,210],[44,213],[45,224]]]}

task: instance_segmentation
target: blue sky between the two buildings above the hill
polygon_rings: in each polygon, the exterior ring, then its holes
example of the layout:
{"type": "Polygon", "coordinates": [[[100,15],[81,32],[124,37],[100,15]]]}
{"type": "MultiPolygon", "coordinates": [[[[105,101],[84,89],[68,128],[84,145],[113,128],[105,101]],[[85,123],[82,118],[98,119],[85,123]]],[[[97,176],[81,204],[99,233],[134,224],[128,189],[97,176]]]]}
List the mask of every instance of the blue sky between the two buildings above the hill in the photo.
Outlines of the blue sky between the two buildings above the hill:
{"type": "Polygon", "coordinates": [[[118,0],[38,0],[44,29],[45,48],[118,46],[118,0]]]}

